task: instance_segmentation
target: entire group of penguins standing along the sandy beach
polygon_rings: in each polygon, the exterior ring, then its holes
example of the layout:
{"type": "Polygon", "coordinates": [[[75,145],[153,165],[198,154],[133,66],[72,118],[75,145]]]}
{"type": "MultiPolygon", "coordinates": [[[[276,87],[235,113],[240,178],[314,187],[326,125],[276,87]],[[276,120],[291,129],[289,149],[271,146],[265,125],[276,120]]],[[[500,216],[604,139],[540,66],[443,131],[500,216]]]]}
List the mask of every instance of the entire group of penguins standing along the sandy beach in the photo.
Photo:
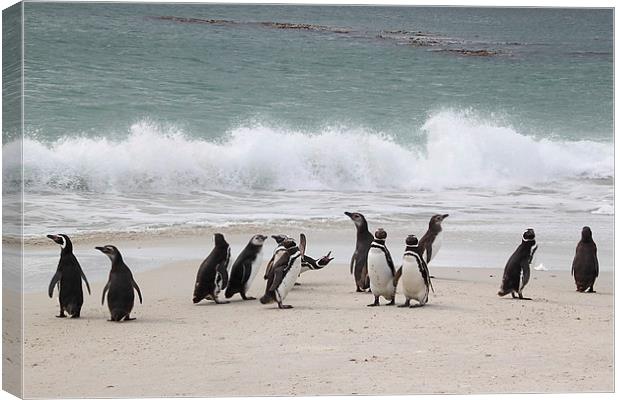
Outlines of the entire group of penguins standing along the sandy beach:
{"type": "MultiPolygon", "coordinates": [[[[387,232],[379,228],[374,235],[368,229],[368,222],[364,215],[357,212],[345,212],[353,221],[357,231],[355,251],[351,257],[351,274],[354,276],[356,291],[370,292],[374,302],[368,306],[379,305],[380,297],[394,305],[396,288],[401,282],[405,302],[399,307],[421,307],[428,302],[429,291],[433,290],[428,263],[437,255],[442,243],[442,221],[448,214],[433,215],[429,221],[428,230],[420,240],[415,235],[405,239],[405,251],[401,266],[396,269],[390,251],[385,241],[387,232]],[[416,304],[411,304],[415,300],[416,304]]],[[[77,258],[73,254],[73,245],[67,235],[47,235],[61,247],[60,261],[48,289],[50,298],[54,287],[59,287],[60,313],[57,317],[79,318],[84,302],[82,280],[90,294],[90,285],[77,258]]],[[[267,263],[264,274],[266,280],[265,293],[260,298],[262,304],[277,303],[278,308],[292,308],[284,304],[284,299],[296,285],[297,278],[304,272],[320,270],[331,260],[331,251],[320,259],[314,259],[306,254],[306,236],[301,233],[299,241],[287,235],[272,235],[277,247],[267,263]]],[[[212,300],[217,304],[228,303],[218,298],[221,291],[227,299],[239,294],[243,300],[254,300],[247,295],[254,278],[262,264],[262,248],[267,236],[254,235],[246,247],[230,266],[230,246],[224,235],[214,235],[215,247],[201,263],[196,276],[193,302],[212,300]]],[[[134,306],[134,290],[138,293],[142,303],[142,293],[133,275],[119,250],[112,245],[95,247],[107,255],[112,266],[108,281],[103,289],[101,304],[104,304],[107,293],[110,321],[129,321],[134,306]]],[[[527,229],[521,239],[521,244],[508,259],[504,268],[499,296],[511,294],[513,298],[530,300],[523,296],[523,288],[530,278],[530,266],[538,245],[532,228],[527,229]]],[[[596,244],[592,239],[592,231],[584,227],[581,240],[577,244],[571,274],[575,278],[577,291],[594,293],[594,282],[598,277],[599,266],[596,244]]]]}

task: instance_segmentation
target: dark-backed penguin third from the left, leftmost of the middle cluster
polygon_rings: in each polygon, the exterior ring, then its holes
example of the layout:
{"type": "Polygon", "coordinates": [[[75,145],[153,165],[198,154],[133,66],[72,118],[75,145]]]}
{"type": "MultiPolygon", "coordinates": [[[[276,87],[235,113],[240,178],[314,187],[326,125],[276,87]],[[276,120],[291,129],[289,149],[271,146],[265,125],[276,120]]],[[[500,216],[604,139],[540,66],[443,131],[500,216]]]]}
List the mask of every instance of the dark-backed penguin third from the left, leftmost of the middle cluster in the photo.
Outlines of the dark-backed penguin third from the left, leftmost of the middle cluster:
{"type": "Polygon", "coordinates": [[[230,246],[224,235],[214,235],[215,247],[200,264],[194,286],[194,304],[202,299],[213,300],[216,304],[226,304],[217,298],[220,291],[228,286],[228,264],[230,263],[230,246]]]}

